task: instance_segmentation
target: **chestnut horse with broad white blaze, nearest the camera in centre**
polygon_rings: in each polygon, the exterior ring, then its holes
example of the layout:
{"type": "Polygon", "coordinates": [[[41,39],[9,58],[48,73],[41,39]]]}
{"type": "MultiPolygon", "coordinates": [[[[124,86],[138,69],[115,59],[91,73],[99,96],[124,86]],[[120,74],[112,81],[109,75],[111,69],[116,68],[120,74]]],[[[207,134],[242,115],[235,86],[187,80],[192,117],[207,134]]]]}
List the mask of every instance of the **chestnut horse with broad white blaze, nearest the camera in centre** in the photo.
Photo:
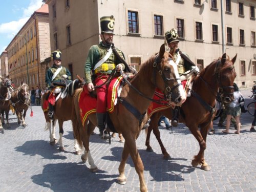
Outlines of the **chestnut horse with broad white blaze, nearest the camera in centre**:
{"type": "MultiPolygon", "coordinates": [[[[118,183],[125,184],[126,176],[124,167],[129,154],[132,157],[136,172],[139,176],[140,191],[147,191],[144,181],[144,166],[136,147],[136,139],[146,123],[146,110],[153,100],[155,89],[158,88],[163,92],[165,98],[172,96],[172,101],[180,105],[184,101],[184,90],[181,85],[177,67],[169,64],[169,54],[165,51],[164,45],[160,47],[158,54],[151,56],[141,65],[140,71],[132,78],[131,81],[124,84],[118,104],[114,106],[114,111],[108,113],[108,122],[111,120],[117,133],[121,133],[125,139],[122,159],[119,165],[118,183]],[[130,107],[128,107],[129,105],[130,107]],[[131,110],[131,111],[130,111],[131,110]],[[134,113],[136,111],[136,115],[134,113]]],[[[125,77],[124,77],[125,78],[125,77]]],[[[81,156],[82,161],[88,159],[91,172],[97,172],[98,168],[94,164],[90,149],[89,139],[96,124],[96,114],[88,115],[87,120],[82,124],[79,96],[83,90],[76,90],[73,96],[74,109],[72,115],[72,123],[75,138],[79,145],[84,146],[84,154],[81,156]]],[[[86,104],[86,103],[84,103],[86,104]]]]}

